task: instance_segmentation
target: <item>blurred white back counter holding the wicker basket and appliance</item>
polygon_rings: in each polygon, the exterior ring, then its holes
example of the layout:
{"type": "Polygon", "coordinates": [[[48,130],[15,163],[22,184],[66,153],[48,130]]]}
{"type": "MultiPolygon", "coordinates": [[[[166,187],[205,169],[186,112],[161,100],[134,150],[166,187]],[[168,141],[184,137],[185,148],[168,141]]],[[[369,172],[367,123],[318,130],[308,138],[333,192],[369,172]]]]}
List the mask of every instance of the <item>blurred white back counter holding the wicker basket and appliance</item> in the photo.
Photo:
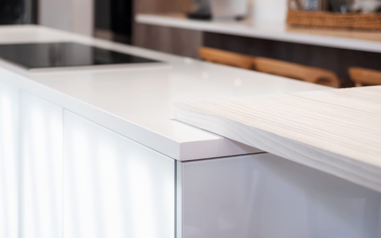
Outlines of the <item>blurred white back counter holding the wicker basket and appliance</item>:
{"type": "Polygon", "coordinates": [[[142,24],[381,53],[381,32],[288,27],[284,22],[202,21],[184,14],[138,14],[142,24]]]}

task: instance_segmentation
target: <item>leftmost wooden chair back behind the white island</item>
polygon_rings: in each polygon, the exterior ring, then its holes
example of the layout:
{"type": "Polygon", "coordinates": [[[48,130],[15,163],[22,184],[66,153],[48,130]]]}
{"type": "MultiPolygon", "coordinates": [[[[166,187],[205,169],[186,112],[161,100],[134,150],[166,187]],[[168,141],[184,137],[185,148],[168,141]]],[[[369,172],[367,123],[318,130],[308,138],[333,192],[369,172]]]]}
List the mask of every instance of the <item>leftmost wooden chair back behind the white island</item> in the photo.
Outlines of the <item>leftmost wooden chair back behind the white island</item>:
{"type": "Polygon", "coordinates": [[[218,50],[209,47],[200,47],[199,53],[201,59],[205,61],[230,65],[243,69],[253,69],[252,57],[245,54],[218,50]]]}

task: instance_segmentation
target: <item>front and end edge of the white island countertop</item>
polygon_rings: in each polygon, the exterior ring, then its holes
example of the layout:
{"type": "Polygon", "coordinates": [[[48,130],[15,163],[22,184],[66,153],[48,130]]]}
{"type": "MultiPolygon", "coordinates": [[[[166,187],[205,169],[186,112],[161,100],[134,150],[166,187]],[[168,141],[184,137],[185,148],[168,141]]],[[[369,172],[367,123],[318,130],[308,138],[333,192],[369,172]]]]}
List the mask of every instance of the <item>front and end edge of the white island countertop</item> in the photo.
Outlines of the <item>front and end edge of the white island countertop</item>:
{"type": "MultiPolygon", "coordinates": [[[[174,160],[189,161],[216,157],[228,157],[239,154],[256,153],[259,150],[247,145],[237,144],[224,137],[216,136],[215,140],[178,142],[161,134],[150,131],[133,122],[112,115],[102,109],[80,101],[72,96],[56,91],[48,86],[30,80],[10,69],[0,68],[5,81],[17,85],[22,90],[32,93],[53,104],[63,107],[89,121],[103,126],[132,141],[166,155],[174,160]],[[2,72],[3,71],[3,72],[2,72]],[[187,153],[192,152],[192,153],[187,153]]],[[[208,132],[206,132],[208,133],[208,132]]]]}

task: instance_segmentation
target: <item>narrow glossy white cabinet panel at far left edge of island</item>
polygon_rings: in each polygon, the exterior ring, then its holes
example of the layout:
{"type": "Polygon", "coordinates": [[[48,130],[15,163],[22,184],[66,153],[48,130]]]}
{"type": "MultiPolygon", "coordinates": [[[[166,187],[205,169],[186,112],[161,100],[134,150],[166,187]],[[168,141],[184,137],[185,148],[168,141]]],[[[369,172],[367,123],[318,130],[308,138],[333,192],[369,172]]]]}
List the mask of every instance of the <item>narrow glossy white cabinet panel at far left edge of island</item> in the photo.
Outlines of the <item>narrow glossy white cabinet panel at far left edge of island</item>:
{"type": "Polygon", "coordinates": [[[0,79],[0,238],[18,238],[19,90],[0,79]]]}

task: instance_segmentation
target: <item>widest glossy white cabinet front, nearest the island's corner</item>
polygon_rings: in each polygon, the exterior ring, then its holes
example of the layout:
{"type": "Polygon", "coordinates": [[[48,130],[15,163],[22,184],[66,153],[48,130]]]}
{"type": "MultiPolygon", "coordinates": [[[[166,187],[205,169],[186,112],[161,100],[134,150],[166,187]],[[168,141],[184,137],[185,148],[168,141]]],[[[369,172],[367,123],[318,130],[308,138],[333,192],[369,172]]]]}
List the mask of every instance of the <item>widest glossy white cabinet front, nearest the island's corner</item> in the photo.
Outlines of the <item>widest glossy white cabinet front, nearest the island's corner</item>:
{"type": "Polygon", "coordinates": [[[174,237],[175,161],[64,112],[64,237],[174,237]]]}

